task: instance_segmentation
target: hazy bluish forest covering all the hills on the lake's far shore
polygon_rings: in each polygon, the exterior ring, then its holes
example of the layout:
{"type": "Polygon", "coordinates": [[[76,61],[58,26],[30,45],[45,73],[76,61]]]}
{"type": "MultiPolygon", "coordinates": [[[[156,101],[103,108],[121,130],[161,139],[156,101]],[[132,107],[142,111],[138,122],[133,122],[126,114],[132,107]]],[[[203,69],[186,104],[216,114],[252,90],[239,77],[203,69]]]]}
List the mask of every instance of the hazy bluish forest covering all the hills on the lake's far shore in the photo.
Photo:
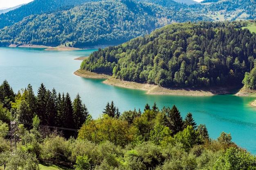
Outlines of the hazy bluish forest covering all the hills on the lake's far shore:
{"type": "Polygon", "coordinates": [[[0,46],[117,45],[167,24],[214,20],[207,13],[232,16],[231,20],[255,19],[255,5],[249,0],[207,5],[172,0],[34,0],[0,15],[0,46]]]}

